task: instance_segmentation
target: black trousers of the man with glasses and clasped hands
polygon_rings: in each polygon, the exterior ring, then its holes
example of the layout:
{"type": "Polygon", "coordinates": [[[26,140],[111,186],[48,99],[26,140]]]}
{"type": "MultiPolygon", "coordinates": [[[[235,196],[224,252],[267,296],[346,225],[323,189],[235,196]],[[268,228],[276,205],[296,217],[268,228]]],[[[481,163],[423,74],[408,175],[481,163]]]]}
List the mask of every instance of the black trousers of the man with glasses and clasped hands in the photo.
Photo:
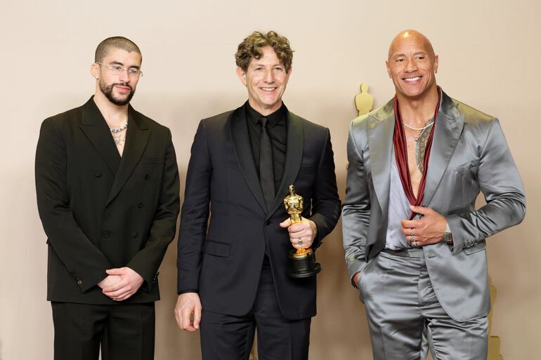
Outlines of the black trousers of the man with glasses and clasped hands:
{"type": "Polygon", "coordinates": [[[54,360],[153,360],[154,302],[89,305],[51,302],[54,360]]]}

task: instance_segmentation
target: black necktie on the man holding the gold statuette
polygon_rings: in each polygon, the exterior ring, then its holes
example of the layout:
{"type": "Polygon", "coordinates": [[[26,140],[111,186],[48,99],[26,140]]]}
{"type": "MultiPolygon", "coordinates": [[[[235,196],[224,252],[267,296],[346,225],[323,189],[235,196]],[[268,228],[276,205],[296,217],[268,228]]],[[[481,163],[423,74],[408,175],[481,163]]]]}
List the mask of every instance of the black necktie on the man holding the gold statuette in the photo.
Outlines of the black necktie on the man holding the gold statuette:
{"type": "Polygon", "coordinates": [[[261,182],[261,190],[267,210],[271,211],[271,205],[274,201],[274,168],[273,168],[273,147],[271,146],[271,137],[268,136],[267,124],[268,119],[262,117],[261,135],[259,138],[259,182],[261,182]]]}

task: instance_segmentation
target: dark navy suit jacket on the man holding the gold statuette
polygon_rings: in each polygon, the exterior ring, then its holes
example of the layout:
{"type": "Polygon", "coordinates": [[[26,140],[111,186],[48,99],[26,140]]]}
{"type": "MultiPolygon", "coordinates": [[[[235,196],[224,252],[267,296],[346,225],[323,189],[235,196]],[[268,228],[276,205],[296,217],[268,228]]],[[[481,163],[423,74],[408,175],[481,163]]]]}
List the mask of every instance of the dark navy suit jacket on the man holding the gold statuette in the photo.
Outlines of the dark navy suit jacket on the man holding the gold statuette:
{"type": "Polygon", "coordinates": [[[279,223],[289,217],[283,200],[291,184],[304,197],[302,215],[318,226],[315,249],[334,229],[340,214],[329,130],[287,112],[284,175],[267,212],[245,107],[202,120],[186,179],[178,292],[197,290],[203,309],[211,312],[247,314],[254,304],[266,248],[283,316],[314,316],[315,276],[290,279],[286,274],[292,246],[287,229],[279,223]]]}

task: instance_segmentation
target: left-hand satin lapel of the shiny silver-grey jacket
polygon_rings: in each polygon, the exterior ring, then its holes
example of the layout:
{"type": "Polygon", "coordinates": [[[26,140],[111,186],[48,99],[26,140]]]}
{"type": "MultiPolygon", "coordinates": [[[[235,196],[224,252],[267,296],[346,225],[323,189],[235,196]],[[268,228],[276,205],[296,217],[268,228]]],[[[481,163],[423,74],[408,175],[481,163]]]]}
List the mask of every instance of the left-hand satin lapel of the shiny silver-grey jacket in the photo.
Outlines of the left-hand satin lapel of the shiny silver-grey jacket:
{"type": "Polygon", "coordinates": [[[384,218],[386,218],[389,208],[394,121],[393,101],[391,100],[380,112],[370,116],[368,124],[372,182],[384,218]]]}

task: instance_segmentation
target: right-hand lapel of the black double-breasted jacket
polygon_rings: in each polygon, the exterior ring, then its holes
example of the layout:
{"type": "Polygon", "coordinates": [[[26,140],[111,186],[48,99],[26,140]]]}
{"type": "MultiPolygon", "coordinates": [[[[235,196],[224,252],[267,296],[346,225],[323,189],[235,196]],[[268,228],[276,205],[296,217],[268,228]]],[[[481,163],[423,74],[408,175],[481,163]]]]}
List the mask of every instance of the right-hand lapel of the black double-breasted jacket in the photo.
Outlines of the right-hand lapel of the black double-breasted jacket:
{"type": "Polygon", "coordinates": [[[118,167],[117,175],[112,183],[111,191],[107,198],[107,204],[115,199],[120,189],[126,183],[126,180],[133,173],[133,169],[138,164],[145,147],[147,146],[148,138],[150,138],[150,129],[148,129],[143,121],[139,119],[138,114],[129,107],[128,112],[128,130],[126,133],[126,145],[122,152],[122,159],[118,167]]]}

